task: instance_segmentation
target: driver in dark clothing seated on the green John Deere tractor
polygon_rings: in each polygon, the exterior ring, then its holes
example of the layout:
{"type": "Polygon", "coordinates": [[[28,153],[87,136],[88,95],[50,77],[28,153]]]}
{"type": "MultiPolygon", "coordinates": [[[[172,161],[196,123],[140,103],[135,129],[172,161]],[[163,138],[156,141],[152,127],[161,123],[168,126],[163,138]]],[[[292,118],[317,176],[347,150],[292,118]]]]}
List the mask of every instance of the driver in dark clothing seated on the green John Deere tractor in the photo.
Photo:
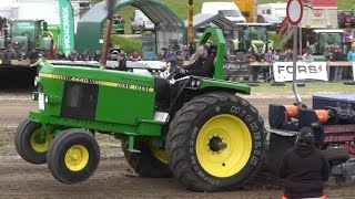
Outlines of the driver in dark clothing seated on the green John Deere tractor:
{"type": "Polygon", "coordinates": [[[203,44],[199,46],[197,60],[187,66],[187,69],[181,69],[180,73],[183,75],[194,75],[212,78],[214,75],[214,57],[209,53],[209,46],[203,44]]]}

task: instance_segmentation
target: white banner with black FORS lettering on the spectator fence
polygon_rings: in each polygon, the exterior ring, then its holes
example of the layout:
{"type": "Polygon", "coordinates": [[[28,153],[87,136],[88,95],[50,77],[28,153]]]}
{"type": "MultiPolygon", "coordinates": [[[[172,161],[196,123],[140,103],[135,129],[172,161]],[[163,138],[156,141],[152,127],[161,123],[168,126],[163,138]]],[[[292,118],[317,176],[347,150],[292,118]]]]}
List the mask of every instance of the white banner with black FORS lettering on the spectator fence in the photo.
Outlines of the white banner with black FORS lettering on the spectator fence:
{"type": "MultiPolygon", "coordinates": [[[[296,64],[297,80],[320,80],[328,81],[326,62],[297,62],[296,64]]],[[[273,65],[275,82],[293,81],[293,63],[275,62],[273,65]]]]}

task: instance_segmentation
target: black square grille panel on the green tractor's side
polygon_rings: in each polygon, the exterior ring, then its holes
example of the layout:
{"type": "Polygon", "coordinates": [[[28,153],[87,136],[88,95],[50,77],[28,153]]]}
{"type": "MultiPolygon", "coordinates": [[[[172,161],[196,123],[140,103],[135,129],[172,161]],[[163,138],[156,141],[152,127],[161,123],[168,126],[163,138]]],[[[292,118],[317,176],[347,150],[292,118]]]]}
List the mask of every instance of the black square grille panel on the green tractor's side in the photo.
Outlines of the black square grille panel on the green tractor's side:
{"type": "Polygon", "coordinates": [[[62,117],[94,119],[99,85],[65,82],[62,117]]]}

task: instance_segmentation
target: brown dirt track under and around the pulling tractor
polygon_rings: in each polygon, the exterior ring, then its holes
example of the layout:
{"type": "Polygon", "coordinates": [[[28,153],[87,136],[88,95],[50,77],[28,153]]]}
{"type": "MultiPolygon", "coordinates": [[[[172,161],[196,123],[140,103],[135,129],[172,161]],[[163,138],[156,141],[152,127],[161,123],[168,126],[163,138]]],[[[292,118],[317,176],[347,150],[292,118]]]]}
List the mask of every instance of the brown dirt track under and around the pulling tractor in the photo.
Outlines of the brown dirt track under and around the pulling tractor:
{"type": "MultiPolygon", "coordinates": [[[[256,106],[267,124],[267,105],[291,104],[293,97],[262,97],[247,100],[256,106]],[[275,102],[275,98],[277,101],[275,102]]],[[[304,97],[308,105],[311,97],[304,97]]],[[[89,180],[79,185],[63,185],[49,172],[47,165],[31,165],[22,160],[13,146],[17,125],[29,111],[36,111],[30,93],[0,93],[0,198],[280,198],[281,189],[233,191],[222,193],[190,192],[178,180],[140,178],[132,172],[119,147],[120,142],[105,135],[98,135],[101,146],[99,169],[89,180]]],[[[355,198],[355,186],[329,187],[329,198],[355,198]]]]}

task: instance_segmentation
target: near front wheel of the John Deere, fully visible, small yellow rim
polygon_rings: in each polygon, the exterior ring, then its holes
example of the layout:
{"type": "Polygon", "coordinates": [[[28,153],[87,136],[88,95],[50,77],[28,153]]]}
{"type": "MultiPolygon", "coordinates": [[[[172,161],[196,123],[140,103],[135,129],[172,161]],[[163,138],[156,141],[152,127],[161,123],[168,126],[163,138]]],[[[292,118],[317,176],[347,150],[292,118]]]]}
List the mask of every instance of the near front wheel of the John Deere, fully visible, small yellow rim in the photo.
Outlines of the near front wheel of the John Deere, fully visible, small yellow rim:
{"type": "Polygon", "coordinates": [[[100,163],[95,138],[82,129],[68,129],[57,136],[47,153],[52,176],[63,184],[75,184],[90,178],[100,163]]]}

